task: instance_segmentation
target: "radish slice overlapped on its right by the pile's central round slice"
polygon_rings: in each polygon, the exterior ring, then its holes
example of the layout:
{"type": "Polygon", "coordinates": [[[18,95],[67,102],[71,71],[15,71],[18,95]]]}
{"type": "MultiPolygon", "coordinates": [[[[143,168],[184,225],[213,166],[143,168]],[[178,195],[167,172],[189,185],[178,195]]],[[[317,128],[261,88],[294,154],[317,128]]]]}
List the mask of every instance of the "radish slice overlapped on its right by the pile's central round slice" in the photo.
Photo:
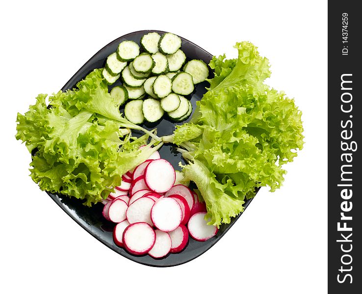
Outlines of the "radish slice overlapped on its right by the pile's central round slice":
{"type": "Polygon", "coordinates": [[[149,197],[142,197],[129,205],[126,216],[129,223],[146,222],[154,225],[151,221],[151,208],[155,204],[155,200],[149,197]]]}

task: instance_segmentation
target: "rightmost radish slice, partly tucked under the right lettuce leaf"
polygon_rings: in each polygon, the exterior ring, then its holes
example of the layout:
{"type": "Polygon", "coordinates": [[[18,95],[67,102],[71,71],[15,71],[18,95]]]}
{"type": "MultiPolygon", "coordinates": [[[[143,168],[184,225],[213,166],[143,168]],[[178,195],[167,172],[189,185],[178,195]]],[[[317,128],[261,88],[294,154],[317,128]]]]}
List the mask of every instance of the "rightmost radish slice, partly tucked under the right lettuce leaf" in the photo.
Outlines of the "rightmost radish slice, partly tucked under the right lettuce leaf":
{"type": "Polygon", "coordinates": [[[215,236],[218,231],[216,226],[207,225],[205,215],[206,212],[198,212],[188,221],[188,231],[196,241],[206,241],[215,236]]]}

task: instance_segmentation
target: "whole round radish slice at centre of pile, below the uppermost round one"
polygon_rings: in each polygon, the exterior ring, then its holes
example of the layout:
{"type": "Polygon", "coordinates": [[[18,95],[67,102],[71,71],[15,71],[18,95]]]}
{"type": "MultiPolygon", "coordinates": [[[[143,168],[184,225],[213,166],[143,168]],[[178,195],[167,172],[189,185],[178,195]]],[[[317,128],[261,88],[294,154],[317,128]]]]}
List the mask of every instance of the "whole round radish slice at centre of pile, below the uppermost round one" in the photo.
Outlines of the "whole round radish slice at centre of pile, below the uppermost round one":
{"type": "Polygon", "coordinates": [[[180,204],[173,198],[158,199],[151,209],[151,220],[161,231],[173,231],[182,220],[180,204]]]}

